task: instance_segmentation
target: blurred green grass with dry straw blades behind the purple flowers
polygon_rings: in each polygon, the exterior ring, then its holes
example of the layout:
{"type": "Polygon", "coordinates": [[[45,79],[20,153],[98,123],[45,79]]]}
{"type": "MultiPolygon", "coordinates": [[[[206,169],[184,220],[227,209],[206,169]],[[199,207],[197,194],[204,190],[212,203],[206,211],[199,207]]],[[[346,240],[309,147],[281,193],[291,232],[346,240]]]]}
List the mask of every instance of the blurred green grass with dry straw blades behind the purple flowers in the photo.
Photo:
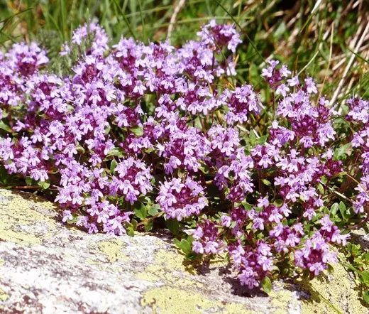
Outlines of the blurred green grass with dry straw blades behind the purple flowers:
{"type": "MultiPolygon", "coordinates": [[[[60,44],[72,30],[96,18],[113,41],[121,36],[137,40],[165,40],[175,7],[180,1],[155,0],[51,0],[0,1],[0,43],[37,40],[57,60],[60,44]]],[[[243,34],[238,49],[239,83],[260,84],[263,60],[278,58],[295,72],[313,75],[320,92],[331,96],[343,80],[337,99],[353,93],[369,94],[368,38],[360,48],[350,45],[368,18],[368,1],[258,1],[186,0],[173,25],[170,40],[181,45],[196,36],[210,18],[236,23],[243,34]],[[291,3],[292,5],[290,5],[291,3]],[[353,6],[355,5],[355,6],[353,6]],[[354,60],[343,77],[348,61],[354,60]],[[343,77],[343,79],[342,79],[343,77]]]]}

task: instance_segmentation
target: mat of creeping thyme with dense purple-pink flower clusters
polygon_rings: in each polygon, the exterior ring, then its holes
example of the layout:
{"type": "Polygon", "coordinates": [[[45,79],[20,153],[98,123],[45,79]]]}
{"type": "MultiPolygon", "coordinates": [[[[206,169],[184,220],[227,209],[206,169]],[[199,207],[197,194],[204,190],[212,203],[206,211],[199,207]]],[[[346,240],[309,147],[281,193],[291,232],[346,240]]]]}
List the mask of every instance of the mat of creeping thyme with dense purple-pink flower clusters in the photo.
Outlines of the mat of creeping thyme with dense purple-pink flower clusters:
{"type": "Polygon", "coordinates": [[[277,60],[260,67],[264,90],[239,86],[236,29],[197,36],[109,45],[89,23],[62,46],[62,75],[36,43],[14,44],[0,56],[1,163],[57,190],[60,220],[89,233],[168,228],[246,288],[317,276],[368,220],[369,102],[336,111],[277,60]]]}

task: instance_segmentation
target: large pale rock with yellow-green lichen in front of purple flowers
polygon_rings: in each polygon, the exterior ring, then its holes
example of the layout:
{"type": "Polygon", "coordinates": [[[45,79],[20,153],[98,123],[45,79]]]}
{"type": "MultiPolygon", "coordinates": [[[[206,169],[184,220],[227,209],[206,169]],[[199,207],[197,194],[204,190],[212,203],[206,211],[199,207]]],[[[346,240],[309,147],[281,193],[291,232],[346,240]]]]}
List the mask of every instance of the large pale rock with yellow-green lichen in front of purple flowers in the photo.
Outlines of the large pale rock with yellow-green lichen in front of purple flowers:
{"type": "Polygon", "coordinates": [[[1,313],[366,313],[354,289],[338,264],[250,296],[221,263],[184,265],[165,234],[87,234],[52,203],[0,190],[1,313]]]}

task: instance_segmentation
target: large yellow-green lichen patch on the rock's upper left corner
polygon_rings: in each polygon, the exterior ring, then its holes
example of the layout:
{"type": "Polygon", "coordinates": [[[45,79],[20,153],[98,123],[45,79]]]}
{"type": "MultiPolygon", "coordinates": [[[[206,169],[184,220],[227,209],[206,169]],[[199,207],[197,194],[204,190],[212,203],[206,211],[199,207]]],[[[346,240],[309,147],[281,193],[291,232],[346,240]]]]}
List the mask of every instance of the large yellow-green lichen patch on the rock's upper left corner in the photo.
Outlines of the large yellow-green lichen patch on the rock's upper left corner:
{"type": "MultiPolygon", "coordinates": [[[[35,206],[33,197],[21,197],[7,190],[1,190],[1,195],[11,197],[11,201],[1,208],[0,239],[32,245],[40,244],[43,239],[52,237],[56,230],[55,221],[52,217],[33,210],[35,206]],[[40,222],[42,222],[42,232],[33,227],[40,222]]],[[[42,206],[45,210],[53,207],[50,202],[43,202],[42,206]]]]}

